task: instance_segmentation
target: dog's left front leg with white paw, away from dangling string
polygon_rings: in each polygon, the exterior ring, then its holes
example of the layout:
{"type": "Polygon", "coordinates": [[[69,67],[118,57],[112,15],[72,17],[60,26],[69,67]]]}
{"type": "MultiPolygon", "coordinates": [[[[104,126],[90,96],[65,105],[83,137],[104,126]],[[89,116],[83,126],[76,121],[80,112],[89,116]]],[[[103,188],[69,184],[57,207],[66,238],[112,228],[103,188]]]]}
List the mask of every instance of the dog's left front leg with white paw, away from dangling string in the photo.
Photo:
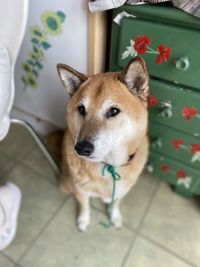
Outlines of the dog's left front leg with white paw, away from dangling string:
{"type": "Polygon", "coordinates": [[[75,197],[79,204],[78,219],[77,219],[78,229],[80,231],[85,231],[90,223],[89,196],[81,192],[76,192],[75,197]]]}

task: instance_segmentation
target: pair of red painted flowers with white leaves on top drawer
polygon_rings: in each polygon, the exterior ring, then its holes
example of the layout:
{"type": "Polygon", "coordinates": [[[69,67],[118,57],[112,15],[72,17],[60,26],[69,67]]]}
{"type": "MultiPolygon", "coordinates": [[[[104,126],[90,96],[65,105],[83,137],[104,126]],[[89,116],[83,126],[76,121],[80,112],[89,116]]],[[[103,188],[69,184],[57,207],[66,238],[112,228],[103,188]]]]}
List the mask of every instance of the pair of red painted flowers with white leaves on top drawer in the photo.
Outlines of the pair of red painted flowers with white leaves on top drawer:
{"type": "Polygon", "coordinates": [[[122,54],[122,59],[144,53],[157,55],[156,64],[161,64],[169,59],[171,52],[169,47],[165,47],[164,44],[159,44],[155,50],[149,46],[150,44],[151,39],[148,36],[138,35],[135,40],[130,40],[130,46],[126,47],[126,50],[122,54]]]}

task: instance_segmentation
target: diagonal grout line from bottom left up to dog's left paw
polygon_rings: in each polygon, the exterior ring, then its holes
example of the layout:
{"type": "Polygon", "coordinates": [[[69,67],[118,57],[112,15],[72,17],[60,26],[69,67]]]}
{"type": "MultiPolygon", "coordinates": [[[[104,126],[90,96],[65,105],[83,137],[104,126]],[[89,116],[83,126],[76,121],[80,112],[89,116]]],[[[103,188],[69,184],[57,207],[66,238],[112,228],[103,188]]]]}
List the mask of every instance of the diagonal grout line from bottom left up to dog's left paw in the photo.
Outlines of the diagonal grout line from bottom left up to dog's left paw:
{"type": "Polygon", "coordinates": [[[49,220],[46,222],[46,224],[42,227],[42,229],[39,231],[39,233],[33,238],[30,245],[26,248],[24,253],[21,255],[21,257],[18,260],[18,264],[21,264],[24,257],[27,255],[27,253],[30,251],[30,249],[33,247],[33,245],[37,242],[37,240],[40,238],[40,236],[43,234],[43,232],[47,229],[47,227],[50,225],[50,223],[54,220],[56,215],[59,213],[59,211],[63,208],[65,203],[70,199],[71,196],[67,196],[64,201],[61,203],[61,205],[56,209],[56,211],[52,214],[52,216],[49,218],[49,220]]]}

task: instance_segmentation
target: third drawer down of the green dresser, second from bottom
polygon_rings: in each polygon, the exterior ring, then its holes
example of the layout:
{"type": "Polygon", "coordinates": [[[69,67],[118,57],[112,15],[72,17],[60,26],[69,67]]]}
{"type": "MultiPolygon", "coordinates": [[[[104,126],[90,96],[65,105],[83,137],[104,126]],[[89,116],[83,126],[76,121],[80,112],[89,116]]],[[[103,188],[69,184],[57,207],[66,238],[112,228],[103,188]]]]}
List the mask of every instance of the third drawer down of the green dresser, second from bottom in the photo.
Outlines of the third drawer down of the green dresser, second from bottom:
{"type": "Polygon", "coordinates": [[[200,138],[151,122],[149,139],[151,150],[200,169],[200,138]]]}

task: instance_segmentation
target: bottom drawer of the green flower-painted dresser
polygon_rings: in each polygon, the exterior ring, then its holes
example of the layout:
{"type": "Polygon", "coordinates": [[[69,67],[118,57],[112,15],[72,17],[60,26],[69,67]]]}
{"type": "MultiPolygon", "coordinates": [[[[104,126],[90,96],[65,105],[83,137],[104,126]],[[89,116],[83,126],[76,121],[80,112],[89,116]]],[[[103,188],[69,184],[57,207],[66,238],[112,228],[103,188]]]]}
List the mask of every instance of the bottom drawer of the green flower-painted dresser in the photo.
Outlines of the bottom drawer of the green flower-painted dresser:
{"type": "Polygon", "coordinates": [[[199,171],[185,164],[175,162],[168,157],[151,153],[147,169],[176,187],[176,191],[183,195],[199,194],[199,171]]]}

